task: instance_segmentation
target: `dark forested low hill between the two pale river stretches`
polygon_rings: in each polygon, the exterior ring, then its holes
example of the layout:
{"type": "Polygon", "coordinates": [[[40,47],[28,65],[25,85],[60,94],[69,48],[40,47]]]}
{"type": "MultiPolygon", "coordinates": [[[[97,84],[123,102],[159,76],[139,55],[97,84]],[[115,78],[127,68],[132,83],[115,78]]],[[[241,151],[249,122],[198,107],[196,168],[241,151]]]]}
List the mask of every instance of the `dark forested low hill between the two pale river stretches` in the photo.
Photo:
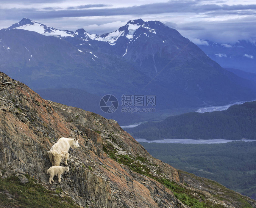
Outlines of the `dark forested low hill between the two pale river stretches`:
{"type": "Polygon", "coordinates": [[[256,101],[233,105],[226,111],[186,113],[128,130],[136,138],[256,139],[256,101]]]}

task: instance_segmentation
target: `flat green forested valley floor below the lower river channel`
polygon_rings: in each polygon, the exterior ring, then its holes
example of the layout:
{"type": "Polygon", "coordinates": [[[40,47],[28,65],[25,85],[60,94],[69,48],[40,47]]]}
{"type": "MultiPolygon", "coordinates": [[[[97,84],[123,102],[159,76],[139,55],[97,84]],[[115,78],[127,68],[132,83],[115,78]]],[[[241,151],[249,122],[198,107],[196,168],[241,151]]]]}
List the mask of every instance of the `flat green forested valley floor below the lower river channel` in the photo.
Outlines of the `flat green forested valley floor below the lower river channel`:
{"type": "Polygon", "coordinates": [[[166,144],[141,142],[145,149],[174,168],[215,180],[255,198],[256,142],[166,144]]]}

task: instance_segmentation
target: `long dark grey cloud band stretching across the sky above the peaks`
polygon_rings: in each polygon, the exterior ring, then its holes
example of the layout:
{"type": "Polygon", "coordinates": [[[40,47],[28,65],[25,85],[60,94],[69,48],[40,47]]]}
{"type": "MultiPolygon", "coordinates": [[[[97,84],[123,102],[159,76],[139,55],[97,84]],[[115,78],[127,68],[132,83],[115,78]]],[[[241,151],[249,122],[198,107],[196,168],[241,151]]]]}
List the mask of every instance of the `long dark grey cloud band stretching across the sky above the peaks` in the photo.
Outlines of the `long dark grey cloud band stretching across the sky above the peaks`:
{"type": "MultiPolygon", "coordinates": [[[[238,14],[238,11],[255,10],[256,4],[252,5],[217,5],[206,4],[198,5],[196,1],[169,1],[166,3],[153,3],[144,4],[140,6],[132,7],[120,7],[120,8],[104,8],[104,9],[83,9],[90,7],[102,7],[106,4],[88,4],[77,7],[69,7],[65,10],[51,10],[42,11],[37,9],[1,9],[1,12],[6,14],[6,19],[13,19],[15,17],[30,17],[30,18],[61,18],[61,17],[90,17],[90,16],[113,16],[113,15],[145,15],[145,14],[161,14],[161,13],[176,13],[176,12],[211,12],[221,11],[221,14],[225,12],[234,11],[238,14]],[[72,8],[72,10],[71,10],[72,8]],[[78,9],[79,8],[79,9],[78,9]]],[[[251,11],[249,11],[251,12],[251,11]]],[[[249,14],[248,11],[245,13],[249,14]]],[[[216,14],[216,13],[215,13],[216,14]]]]}

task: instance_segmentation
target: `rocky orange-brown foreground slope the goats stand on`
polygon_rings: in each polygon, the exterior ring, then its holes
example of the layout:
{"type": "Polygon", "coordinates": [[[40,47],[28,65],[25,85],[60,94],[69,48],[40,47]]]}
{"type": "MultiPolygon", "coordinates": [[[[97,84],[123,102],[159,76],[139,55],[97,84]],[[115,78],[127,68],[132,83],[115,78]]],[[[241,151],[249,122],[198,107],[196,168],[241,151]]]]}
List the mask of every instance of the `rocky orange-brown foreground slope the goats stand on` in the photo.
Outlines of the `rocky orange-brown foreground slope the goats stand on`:
{"type": "Polygon", "coordinates": [[[14,173],[26,182],[28,174],[82,207],[256,207],[246,196],[153,158],[114,120],[43,100],[4,73],[0,170],[2,179],[14,173]],[[70,172],[49,185],[46,151],[60,137],[76,135],[80,148],[70,149],[70,172]]]}

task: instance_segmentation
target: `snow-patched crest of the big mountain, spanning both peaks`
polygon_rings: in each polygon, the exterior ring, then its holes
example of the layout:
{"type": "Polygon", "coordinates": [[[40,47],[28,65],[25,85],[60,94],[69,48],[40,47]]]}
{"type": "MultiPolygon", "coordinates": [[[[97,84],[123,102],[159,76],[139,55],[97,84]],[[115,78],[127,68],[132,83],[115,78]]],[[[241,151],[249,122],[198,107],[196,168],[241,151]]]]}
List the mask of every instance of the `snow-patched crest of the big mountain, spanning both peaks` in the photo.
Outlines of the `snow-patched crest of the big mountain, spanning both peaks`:
{"type": "Polygon", "coordinates": [[[165,26],[158,21],[145,22],[142,19],[130,20],[118,30],[105,33],[101,35],[90,34],[84,29],[78,29],[75,32],[68,30],[59,30],[53,27],[48,27],[44,24],[32,21],[28,18],[23,18],[20,22],[13,24],[7,29],[24,29],[28,31],[35,31],[46,36],[55,36],[59,38],[75,37],[78,40],[86,41],[96,40],[108,42],[110,45],[115,45],[116,41],[122,37],[122,40],[130,43],[136,41],[139,37],[152,37],[161,31],[165,26]]]}

